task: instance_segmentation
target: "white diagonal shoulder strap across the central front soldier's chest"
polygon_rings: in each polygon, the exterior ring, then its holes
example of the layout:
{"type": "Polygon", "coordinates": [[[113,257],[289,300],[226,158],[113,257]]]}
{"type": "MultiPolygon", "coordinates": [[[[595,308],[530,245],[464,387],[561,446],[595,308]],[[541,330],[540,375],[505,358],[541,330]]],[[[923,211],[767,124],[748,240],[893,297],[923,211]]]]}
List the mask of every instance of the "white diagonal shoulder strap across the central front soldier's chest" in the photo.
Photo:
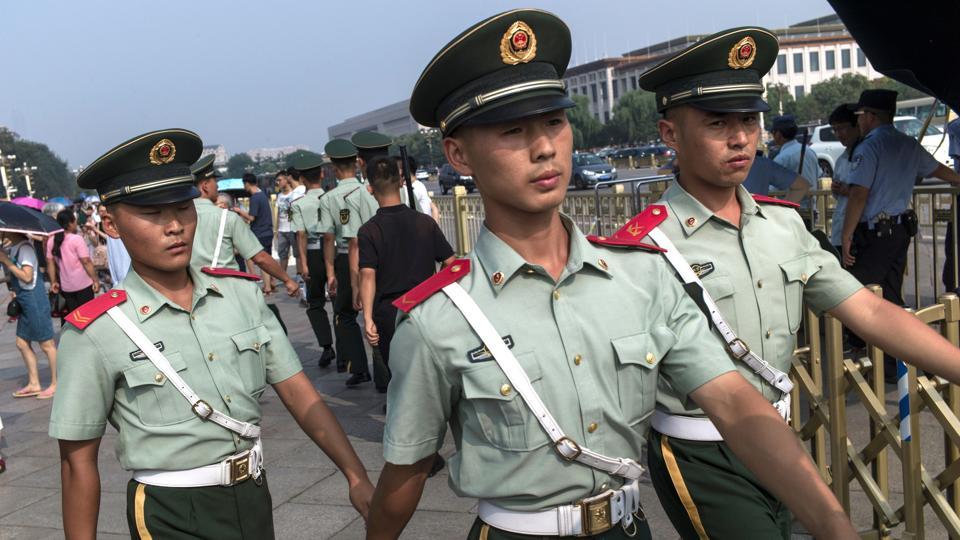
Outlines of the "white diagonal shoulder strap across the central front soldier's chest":
{"type": "Polygon", "coordinates": [[[603,471],[605,473],[636,480],[643,474],[643,467],[630,458],[612,458],[603,454],[598,454],[589,448],[580,446],[576,441],[568,437],[560,424],[557,423],[547,406],[540,399],[533,385],[530,384],[530,378],[523,371],[523,367],[517,358],[510,351],[510,348],[503,343],[500,334],[487,319],[480,306],[474,302],[473,298],[467,294],[458,283],[451,283],[443,288],[443,292],[450,297],[450,300],[457,306],[464,318],[473,328],[474,332],[480,336],[480,340],[486,345],[487,350],[493,355],[497,365],[503,370],[510,384],[523,398],[523,402],[537,417],[540,426],[547,432],[550,440],[553,441],[553,447],[560,454],[560,457],[567,461],[577,461],[587,467],[603,471]]]}

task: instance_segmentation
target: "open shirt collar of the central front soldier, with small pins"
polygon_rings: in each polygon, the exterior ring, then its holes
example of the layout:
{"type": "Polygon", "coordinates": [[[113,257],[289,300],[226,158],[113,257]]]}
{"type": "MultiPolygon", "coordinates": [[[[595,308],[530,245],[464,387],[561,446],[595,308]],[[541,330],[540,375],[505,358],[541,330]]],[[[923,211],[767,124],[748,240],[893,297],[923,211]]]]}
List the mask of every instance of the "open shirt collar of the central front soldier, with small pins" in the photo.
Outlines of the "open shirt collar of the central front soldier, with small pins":
{"type": "MultiPolygon", "coordinates": [[[[570,235],[566,274],[575,274],[586,265],[609,276],[609,265],[604,258],[608,255],[607,252],[591,244],[568,216],[560,214],[560,220],[570,235]]],[[[494,294],[499,293],[518,272],[547,275],[543,267],[524,260],[512,247],[493,234],[486,224],[480,228],[473,251],[480,262],[480,267],[475,271],[486,276],[494,294]]]]}

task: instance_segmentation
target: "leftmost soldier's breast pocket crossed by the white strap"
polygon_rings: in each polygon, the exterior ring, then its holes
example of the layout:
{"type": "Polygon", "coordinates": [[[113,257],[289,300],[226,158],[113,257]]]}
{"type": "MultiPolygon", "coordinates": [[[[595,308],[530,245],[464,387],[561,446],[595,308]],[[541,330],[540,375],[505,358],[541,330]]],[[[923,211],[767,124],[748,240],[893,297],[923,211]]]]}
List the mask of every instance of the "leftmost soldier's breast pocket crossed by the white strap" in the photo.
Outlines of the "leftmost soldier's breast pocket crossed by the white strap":
{"type": "MultiPolygon", "coordinates": [[[[163,353],[170,365],[184,376],[187,364],[178,352],[163,353]]],[[[194,417],[190,403],[173,383],[149,360],[140,360],[137,365],[123,371],[127,382],[127,399],[136,403],[140,422],[145,426],[169,426],[194,417]]]]}

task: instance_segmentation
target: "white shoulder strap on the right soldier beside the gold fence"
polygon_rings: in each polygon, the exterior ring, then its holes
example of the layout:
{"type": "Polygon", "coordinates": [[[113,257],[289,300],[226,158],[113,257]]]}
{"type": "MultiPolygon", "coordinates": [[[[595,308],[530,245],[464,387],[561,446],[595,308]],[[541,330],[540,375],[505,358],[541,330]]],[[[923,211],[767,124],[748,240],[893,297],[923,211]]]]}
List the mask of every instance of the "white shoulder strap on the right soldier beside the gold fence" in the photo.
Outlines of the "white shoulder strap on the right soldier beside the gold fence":
{"type": "MultiPolygon", "coordinates": [[[[670,262],[670,266],[677,271],[677,274],[680,275],[680,279],[683,280],[684,284],[696,285],[696,288],[699,289],[702,298],[695,298],[694,300],[703,300],[703,303],[706,305],[707,316],[710,317],[713,325],[717,328],[717,331],[720,332],[720,337],[722,337],[723,341],[727,344],[727,349],[730,351],[730,354],[737,360],[750,366],[750,369],[760,375],[763,380],[770,383],[774,388],[784,394],[789,394],[790,391],[793,390],[793,382],[790,380],[790,377],[770,365],[770,363],[763,358],[760,358],[760,356],[750,350],[750,347],[748,347],[742,339],[737,337],[736,332],[734,332],[733,329],[730,328],[730,325],[727,324],[727,321],[723,319],[720,308],[717,307],[717,303],[713,301],[713,297],[710,296],[710,293],[707,292],[707,289],[703,286],[703,282],[700,281],[697,274],[690,268],[690,263],[683,258],[680,250],[677,249],[677,246],[667,237],[666,233],[660,230],[659,227],[654,227],[648,236],[656,242],[658,246],[667,250],[663,253],[663,256],[670,262]]],[[[697,303],[699,304],[699,302],[697,303]]]]}

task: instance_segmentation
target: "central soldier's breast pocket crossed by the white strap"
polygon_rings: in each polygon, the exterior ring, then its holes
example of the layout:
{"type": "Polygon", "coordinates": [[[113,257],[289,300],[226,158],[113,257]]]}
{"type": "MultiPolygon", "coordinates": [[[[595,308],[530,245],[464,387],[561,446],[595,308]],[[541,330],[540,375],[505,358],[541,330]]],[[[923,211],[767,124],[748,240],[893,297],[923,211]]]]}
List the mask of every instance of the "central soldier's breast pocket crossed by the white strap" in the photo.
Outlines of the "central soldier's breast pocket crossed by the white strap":
{"type": "MultiPolygon", "coordinates": [[[[540,363],[535,352],[517,355],[534,390],[541,393],[540,363]]],[[[462,375],[463,394],[473,409],[483,437],[502,450],[530,451],[550,442],[533,413],[496,362],[462,375]]]]}

